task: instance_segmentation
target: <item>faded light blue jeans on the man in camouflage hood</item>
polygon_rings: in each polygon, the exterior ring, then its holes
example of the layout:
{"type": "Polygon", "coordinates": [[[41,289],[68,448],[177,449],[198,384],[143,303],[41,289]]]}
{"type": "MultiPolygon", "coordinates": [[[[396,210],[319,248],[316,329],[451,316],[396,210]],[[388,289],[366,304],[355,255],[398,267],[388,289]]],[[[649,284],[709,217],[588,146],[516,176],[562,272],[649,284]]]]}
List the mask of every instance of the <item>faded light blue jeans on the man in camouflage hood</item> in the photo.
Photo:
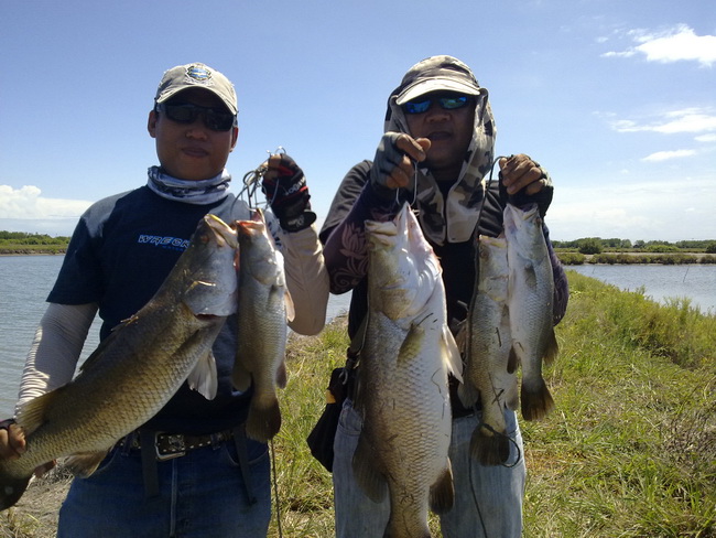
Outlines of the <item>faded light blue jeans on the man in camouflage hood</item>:
{"type": "MultiPolygon", "coordinates": [[[[505,465],[480,465],[469,455],[479,417],[453,420],[449,458],[455,504],[441,517],[444,538],[509,538],[522,532],[522,497],[525,466],[522,434],[516,413],[506,411],[508,432],[514,441],[505,465]],[[485,532],[486,531],[486,532],[485,532]]],[[[333,485],[337,538],[382,538],[390,506],[370,501],[352,475],[351,460],[360,434],[360,417],[350,400],[344,404],[334,442],[333,485]]]]}

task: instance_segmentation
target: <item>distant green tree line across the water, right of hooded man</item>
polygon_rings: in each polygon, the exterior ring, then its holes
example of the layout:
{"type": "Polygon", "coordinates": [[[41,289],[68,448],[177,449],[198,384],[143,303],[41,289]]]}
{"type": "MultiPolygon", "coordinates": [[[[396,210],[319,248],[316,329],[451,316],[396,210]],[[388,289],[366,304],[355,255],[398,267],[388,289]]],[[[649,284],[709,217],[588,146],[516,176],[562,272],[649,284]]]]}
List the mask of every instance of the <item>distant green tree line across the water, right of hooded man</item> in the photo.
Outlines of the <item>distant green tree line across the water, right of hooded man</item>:
{"type": "Polygon", "coordinates": [[[601,237],[584,237],[573,241],[553,240],[554,248],[563,251],[578,251],[581,254],[601,254],[607,250],[631,251],[631,252],[705,252],[716,254],[716,240],[684,240],[676,243],[669,241],[644,241],[638,240],[633,244],[629,239],[603,239],[601,237]]]}

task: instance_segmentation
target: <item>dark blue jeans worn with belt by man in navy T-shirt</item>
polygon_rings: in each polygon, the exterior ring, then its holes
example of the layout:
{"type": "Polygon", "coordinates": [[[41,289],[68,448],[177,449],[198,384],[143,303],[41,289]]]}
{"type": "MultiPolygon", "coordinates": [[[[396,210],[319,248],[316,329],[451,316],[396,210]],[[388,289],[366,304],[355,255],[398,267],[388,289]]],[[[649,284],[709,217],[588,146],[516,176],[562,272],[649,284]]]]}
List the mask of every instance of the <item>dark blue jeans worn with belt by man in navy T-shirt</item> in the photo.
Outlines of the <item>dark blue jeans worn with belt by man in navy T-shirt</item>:
{"type": "Polygon", "coordinates": [[[115,449],[75,478],[59,510],[58,538],[257,538],[271,519],[267,446],[248,441],[249,503],[234,442],[156,462],[160,494],[147,498],[139,450],[115,449]]]}

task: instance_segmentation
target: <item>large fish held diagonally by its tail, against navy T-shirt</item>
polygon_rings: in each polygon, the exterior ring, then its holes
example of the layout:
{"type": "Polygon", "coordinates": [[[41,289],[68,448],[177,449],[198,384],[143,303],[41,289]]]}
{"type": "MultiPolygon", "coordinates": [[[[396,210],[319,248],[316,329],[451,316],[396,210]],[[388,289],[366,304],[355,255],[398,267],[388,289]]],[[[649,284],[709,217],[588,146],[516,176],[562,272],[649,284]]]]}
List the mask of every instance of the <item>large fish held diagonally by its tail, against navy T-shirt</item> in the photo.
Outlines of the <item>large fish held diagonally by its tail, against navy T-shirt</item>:
{"type": "Polygon", "coordinates": [[[236,232],[205,216],[154,297],[118,325],[67,385],[18,411],[26,451],[0,461],[0,509],[15,504],[33,470],[63,456],[87,476],[116,442],[151,419],[181,385],[216,394],[211,344],[236,311],[236,232]]]}

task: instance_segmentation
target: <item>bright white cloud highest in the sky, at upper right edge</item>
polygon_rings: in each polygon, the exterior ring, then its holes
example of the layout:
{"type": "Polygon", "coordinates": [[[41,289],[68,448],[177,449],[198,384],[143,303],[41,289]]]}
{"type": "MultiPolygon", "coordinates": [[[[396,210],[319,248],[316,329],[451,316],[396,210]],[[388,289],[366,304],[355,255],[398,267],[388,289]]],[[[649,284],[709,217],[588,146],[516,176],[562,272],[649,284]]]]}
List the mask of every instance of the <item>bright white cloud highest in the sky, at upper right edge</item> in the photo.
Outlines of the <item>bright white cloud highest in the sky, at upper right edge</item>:
{"type": "Polygon", "coordinates": [[[631,30],[627,35],[638,45],[626,51],[607,52],[603,56],[630,57],[643,54],[647,62],[698,62],[704,67],[710,67],[716,62],[716,35],[696,35],[685,24],[657,33],[631,30]]]}

